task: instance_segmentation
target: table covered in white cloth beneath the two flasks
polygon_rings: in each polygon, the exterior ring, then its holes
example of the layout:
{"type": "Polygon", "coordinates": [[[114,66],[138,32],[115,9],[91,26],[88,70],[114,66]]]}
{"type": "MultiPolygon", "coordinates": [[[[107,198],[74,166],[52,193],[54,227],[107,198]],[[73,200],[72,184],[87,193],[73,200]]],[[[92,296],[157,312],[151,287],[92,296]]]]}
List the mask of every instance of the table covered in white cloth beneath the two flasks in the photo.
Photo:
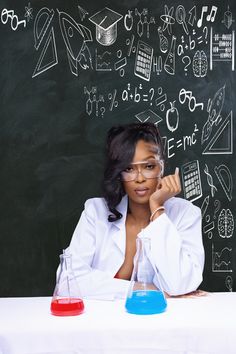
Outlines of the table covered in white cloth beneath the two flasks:
{"type": "Polygon", "coordinates": [[[1,354],[235,354],[236,293],[170,298],[131,315],[124,301],[84,300],[84,314],[50,314],[50,297],[0,299],[1,354]]]}

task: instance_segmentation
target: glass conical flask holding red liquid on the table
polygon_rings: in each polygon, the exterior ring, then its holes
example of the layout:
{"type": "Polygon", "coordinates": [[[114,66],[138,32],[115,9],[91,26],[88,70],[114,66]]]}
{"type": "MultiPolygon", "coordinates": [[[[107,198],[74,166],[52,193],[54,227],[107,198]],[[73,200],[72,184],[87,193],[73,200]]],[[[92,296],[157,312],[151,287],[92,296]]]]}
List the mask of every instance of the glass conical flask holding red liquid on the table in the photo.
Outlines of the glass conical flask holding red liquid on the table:
{"type": "Polygon", "coordinates": [[[60,268],[51,301],[51,313],[56,316],[75,316],[84,311],[71,260],[71,254],[65,251],[60,255],[60,268]]]}

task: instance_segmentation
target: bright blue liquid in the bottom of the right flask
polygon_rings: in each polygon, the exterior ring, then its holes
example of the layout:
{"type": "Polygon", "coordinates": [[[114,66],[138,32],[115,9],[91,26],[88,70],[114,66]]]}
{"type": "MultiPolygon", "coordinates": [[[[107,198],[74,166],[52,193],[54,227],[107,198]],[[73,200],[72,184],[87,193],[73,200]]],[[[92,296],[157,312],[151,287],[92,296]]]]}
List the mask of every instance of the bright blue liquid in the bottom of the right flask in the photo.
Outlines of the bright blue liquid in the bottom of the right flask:
{"type": "Polygon", "coordinates": [[[167,307],[166,299],[161,291],[136,290],[127,297],[125,308],[136,315],[151,315],[164,312],[167,307]]]}

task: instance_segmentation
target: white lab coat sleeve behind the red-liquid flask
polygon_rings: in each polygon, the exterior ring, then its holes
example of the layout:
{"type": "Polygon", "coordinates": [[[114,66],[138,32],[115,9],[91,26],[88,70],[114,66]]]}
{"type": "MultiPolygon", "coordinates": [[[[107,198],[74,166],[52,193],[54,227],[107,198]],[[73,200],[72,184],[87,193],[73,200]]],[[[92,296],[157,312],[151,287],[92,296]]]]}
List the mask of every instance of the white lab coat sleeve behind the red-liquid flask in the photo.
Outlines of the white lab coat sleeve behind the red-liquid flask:
{"type": "Polygon", "coordinates": [[[109,271],[93,267],[97,246],[95,213],[94,206],[85,204],[66,252],[72,255],[73,271],[82,297],[104,300],[124,298],[130,282],[116,279],[109,271]]]}

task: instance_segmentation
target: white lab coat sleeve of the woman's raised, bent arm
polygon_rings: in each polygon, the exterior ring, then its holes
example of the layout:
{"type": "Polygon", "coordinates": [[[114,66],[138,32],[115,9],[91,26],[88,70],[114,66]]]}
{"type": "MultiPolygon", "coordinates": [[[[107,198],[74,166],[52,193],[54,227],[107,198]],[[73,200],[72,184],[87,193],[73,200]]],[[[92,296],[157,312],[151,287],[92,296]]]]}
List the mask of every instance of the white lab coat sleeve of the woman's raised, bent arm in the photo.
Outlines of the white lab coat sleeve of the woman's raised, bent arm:
{"type": "Polygon", "coordinates": [[[173,224],[163,213],[140,233],[141,237],[151,239],[152,263],[163,290],[169,295],[194,291],[202,282],[201,210],[191,203],[183,209],[177,223],[173,224]]]}

